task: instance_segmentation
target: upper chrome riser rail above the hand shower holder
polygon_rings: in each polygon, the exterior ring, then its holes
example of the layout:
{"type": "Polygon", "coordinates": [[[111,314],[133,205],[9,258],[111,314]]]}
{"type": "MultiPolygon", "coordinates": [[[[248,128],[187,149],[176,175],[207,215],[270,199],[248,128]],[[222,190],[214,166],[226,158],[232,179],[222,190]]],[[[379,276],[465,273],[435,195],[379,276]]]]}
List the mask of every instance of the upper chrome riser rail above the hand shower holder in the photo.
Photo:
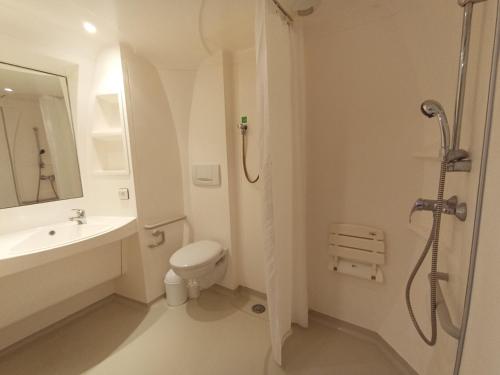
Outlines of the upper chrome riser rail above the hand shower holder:
{"type": "Polygon", "coordinates": [[[458,65],[457,95],[455,98],[455,119],[453,121],[452,149],[460,149],[460,135],[462,132],[462,118],[464,113],[464,98],[467,81],[467,68],[469,65],[470,36],[472,28],[473,2],[464,6],[464,18],[462,22],[462,40],[460,42],[460,59],[458,65]]]}

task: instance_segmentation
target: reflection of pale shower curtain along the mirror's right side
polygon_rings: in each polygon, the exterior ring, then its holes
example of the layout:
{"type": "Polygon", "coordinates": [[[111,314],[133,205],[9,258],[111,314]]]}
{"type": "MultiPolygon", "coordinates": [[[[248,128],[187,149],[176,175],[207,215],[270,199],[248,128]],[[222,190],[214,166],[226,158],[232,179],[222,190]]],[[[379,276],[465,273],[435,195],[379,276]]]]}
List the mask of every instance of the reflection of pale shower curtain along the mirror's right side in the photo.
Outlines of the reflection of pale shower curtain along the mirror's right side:
{"type": "Polygon", "coordinates": [[[59,198],[81,197],[75,138],[66,102],[53,96],[43,96],[39,102],[59,198]]]}

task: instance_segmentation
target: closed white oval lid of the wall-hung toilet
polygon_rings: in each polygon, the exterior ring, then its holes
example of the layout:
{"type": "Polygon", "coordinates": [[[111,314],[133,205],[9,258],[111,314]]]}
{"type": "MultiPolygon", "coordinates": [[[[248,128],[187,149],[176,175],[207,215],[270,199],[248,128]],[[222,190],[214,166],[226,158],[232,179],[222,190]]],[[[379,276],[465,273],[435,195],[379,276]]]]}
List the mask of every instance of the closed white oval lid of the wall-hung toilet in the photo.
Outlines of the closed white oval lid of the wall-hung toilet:
{"type": "Polygon", "coordinates": [[[177,250],[170,257],[170,265],[176,268],[201,266],[217,258],[221,250],[221,245],[215,241],[193,242],[177,250]]]}

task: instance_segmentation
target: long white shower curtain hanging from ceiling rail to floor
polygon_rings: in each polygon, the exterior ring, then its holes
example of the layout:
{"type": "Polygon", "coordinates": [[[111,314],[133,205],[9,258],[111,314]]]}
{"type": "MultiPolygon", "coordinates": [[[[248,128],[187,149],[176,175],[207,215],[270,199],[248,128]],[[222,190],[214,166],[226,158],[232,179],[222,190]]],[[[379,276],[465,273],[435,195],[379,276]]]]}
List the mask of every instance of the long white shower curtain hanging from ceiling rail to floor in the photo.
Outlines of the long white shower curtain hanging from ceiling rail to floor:
{"type": "Polygon", "coordinates": [[[302,39],[257,0],[257,114],[262,123],[264,251],[271,344],[281,365],[292,323],[308,324],[302,39]]]}

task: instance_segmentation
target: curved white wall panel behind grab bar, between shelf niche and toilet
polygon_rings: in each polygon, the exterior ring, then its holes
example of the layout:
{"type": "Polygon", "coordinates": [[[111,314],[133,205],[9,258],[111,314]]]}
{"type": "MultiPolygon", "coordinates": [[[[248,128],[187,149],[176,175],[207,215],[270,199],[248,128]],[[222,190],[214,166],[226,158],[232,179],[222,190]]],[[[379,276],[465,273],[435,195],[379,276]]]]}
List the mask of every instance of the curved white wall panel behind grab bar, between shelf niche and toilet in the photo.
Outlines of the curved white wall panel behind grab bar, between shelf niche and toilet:
{"type": "MultiPolygon", "coordinates": [[[[184,215],[180,154],[169,102],[157,69],[126,46],[121,46],[121,58],[140,228],[140,250],[130,248],[129,256],[142,259],[142,267],[131,264],[129,279],[137,277],[136,282],[141,283],[143,278],[145,296],[132,298],[150,302],[165,292],[163,277],[170,256],[182,247],[184,227],[182,222],[161,227],[166,242],[150,248],[155,239],[144,226],[184,215]]],[[[130,282],[124,280],[119,288],[125,295],[129,293],[130,282]]]]}

